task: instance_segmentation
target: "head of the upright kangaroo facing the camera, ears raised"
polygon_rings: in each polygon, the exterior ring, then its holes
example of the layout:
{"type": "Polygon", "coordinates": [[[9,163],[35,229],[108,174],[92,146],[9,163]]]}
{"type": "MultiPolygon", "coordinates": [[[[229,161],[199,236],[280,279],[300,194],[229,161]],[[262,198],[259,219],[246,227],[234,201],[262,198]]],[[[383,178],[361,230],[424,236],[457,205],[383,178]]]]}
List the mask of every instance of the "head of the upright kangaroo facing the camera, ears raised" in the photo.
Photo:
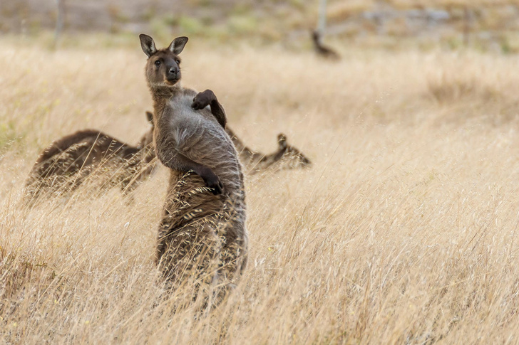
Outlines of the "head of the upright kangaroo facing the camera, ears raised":
{"type": "Polygon", "coordinates": [[[153,38],[141,33],[140,46],[148,56],[146,79],[150,86],[173,86],[180,80],[180,54],[187,43],[187,37],[177,37],[168,48],[157,50],[153,38]]]}

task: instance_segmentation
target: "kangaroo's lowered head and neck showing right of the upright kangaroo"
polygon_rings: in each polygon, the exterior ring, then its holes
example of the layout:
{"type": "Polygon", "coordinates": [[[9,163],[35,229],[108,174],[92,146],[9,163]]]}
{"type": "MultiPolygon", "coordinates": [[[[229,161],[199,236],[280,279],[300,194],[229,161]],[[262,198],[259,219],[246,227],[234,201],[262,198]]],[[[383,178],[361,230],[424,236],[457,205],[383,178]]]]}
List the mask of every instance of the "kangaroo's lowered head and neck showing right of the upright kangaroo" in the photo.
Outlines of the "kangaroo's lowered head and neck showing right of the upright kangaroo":
{"type": "Polygon", "coordinates": [[[249,174],[257,174],[267,169],[279,171],[312,166],[312,161],[307,156],[300,152],[299,149],[287,144],[287,136],[283,133],[277,135],[277,143],[279,145],[277,151],[272,154],[262,154],[246,147],[229,127],[225,131],[231,137],[233,144],[235,144],[236,150],[240,154],[240,161],[242,161],[249,174]]]}

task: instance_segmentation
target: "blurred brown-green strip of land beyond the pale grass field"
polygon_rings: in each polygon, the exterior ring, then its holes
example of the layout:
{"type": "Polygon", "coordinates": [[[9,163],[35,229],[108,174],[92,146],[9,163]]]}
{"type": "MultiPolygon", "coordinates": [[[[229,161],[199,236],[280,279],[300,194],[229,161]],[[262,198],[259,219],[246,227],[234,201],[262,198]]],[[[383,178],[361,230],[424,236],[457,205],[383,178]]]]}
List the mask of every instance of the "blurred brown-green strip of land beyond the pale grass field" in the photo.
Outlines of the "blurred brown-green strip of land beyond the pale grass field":
{"type": "Polygon", "coordinates": [[[341,45],[428,49],[471,46],[519,51],[519,1],[515,0],[4,0],[0,33],[39,36],[72,44],[75,33],[114,33],[106,44],[147,32],[210,41],[277,42],[309,48],[320,28],[341,45]]]}

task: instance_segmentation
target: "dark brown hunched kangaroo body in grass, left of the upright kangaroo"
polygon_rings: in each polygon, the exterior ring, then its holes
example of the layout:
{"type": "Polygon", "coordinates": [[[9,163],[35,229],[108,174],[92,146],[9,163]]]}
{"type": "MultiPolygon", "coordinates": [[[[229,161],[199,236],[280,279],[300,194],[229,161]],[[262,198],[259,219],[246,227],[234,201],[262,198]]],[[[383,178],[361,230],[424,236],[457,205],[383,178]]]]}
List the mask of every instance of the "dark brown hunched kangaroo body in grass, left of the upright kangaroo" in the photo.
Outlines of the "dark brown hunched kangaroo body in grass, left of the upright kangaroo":
{"type": "Polygon", "coordinates": [[[26,181],[26,198],[37,201],[41,192],[72,191],[88,176],[101,179],[101,188],[119,186],[123,193],[133,191],[147,179],[155,166],[152,127],[136,147],[95,129],[86,129],[52,142],[39,154],[26,181]]]}

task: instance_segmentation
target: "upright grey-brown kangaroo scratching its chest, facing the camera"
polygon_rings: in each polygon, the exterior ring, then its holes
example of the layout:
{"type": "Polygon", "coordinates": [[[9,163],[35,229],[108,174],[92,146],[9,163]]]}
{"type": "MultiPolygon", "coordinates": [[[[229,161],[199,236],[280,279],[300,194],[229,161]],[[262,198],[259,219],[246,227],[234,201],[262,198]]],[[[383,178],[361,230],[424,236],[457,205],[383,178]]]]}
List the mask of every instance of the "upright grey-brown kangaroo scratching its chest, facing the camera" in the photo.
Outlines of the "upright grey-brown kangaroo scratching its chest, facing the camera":
{"type": "Polygon", "coordinates": [[[243,174],[225,110],[211,90],[180,86],[178,55],[187,37],[160,50],[150,36],[139,38],[148,56],[155,152],[170,169],[155,263],[170,287],[192,280],[193,299],[213,295],[220,302],[247,262],[243,174]]]}

